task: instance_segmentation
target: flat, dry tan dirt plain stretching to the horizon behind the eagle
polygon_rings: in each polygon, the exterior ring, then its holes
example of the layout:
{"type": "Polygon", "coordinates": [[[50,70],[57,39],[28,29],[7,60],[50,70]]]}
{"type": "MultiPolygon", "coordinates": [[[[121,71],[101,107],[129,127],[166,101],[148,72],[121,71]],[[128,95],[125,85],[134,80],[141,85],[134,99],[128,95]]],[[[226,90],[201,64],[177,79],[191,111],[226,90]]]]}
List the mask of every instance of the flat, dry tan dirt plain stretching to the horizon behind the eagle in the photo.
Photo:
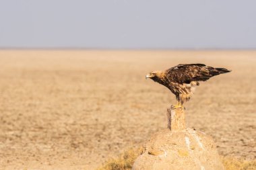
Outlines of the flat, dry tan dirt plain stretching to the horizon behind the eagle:
{"type": "Polygon", "coordinates": [[[256,51],[0,50],[0,169],[95,169],[166,128],[175,103],[146,73],[199,62],[187,126],[220,155],[256,159],[256,51]]]}

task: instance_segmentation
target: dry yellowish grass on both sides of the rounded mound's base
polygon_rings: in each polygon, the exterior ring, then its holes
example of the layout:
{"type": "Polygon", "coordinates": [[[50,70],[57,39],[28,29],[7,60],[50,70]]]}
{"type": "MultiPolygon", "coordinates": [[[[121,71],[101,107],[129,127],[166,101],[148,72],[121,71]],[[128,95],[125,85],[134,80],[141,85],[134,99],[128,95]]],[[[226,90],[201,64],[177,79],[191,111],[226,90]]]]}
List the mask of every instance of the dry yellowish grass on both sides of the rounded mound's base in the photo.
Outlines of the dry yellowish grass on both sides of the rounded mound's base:
{"type": "MultiPolygon", "coordinates": [[[[135,159],[141,153],[139,148],[131,148],[117,158],[111,158],[97,170],[130,170],[135,159]]],[[[256,160],[245,161],[243,159],[234,159],[231,157],[221,157],[226,170],[255,170],[256,160]]]]}

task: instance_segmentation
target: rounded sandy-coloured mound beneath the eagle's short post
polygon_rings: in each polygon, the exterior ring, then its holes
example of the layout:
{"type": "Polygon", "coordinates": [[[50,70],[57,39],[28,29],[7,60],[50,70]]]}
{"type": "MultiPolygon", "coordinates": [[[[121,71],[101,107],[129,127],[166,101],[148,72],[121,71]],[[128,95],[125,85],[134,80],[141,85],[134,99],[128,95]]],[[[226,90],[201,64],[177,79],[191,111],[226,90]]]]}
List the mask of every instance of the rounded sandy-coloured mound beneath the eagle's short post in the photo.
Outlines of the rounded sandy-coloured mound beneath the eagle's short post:
{"type": "Polygon", "coordinates": [[[143,146],[133,170],[224,170],[214,141],[191,128],[157,132],[143,146]]]}

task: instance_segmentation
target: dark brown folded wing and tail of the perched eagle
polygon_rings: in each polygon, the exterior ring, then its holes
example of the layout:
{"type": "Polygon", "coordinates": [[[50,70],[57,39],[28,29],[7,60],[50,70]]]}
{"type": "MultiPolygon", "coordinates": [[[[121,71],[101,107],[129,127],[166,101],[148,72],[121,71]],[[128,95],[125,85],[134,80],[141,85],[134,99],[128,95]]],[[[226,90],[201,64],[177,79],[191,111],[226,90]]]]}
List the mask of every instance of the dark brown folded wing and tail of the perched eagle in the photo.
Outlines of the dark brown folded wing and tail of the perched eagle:
{"type": "Polygon", "coordinates": [[[203,64],[177,65],[166,70],[166,78],[176,83],[191,83],[191,81],[206,81],[215,75],[228,73],[227,69],[207,67],[203,64]]]}

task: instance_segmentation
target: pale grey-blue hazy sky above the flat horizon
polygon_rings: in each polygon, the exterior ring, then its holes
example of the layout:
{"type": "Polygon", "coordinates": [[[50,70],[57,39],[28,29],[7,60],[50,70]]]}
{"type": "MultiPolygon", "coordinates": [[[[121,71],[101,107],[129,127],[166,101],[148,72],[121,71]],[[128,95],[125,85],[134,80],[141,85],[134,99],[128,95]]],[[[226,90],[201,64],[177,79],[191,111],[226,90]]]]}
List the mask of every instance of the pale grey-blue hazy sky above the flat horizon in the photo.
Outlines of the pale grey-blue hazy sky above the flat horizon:
{"type": "Polygon", "coordinates": [[[0,48],[256,48],[255,0],[0,0],[0,48]]]}

